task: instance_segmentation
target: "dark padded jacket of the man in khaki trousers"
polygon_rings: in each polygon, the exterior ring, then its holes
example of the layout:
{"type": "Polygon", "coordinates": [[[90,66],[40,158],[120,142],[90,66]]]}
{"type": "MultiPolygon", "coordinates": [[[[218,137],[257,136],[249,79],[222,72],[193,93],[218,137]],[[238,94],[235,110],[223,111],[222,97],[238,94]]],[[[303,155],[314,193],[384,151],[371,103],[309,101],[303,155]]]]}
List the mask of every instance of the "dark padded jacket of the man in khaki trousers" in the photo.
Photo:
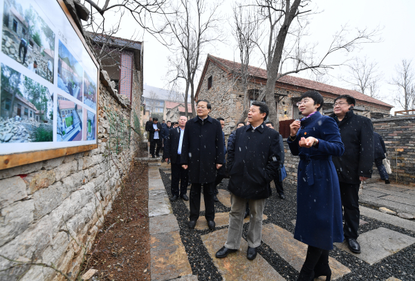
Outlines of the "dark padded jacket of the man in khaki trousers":
{"type": "Polygon", "coordinates": [[[246,199],[268,198],[268,183],[278,176],[280,161],[276,130],[264,123],[254,131],[250,125],[237,129],[232,144],[228,144],[229,191],[246,199]]]}

